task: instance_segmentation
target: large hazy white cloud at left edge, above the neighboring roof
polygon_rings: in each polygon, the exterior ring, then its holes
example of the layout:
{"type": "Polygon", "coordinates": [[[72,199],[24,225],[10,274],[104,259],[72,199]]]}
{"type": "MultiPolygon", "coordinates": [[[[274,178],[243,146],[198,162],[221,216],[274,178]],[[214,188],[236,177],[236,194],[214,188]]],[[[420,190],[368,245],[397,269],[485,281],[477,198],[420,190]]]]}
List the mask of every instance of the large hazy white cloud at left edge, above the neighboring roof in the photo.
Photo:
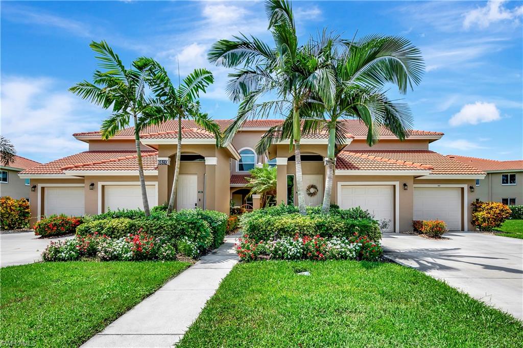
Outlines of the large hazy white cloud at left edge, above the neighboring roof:
{"type": "Polygon", "coordinates": [[[46,77],[3,77],[2,135],[21,156],[49,161],[86,150],[72,134],[98,129],[107,113],[57,85],[46,77]]]}

